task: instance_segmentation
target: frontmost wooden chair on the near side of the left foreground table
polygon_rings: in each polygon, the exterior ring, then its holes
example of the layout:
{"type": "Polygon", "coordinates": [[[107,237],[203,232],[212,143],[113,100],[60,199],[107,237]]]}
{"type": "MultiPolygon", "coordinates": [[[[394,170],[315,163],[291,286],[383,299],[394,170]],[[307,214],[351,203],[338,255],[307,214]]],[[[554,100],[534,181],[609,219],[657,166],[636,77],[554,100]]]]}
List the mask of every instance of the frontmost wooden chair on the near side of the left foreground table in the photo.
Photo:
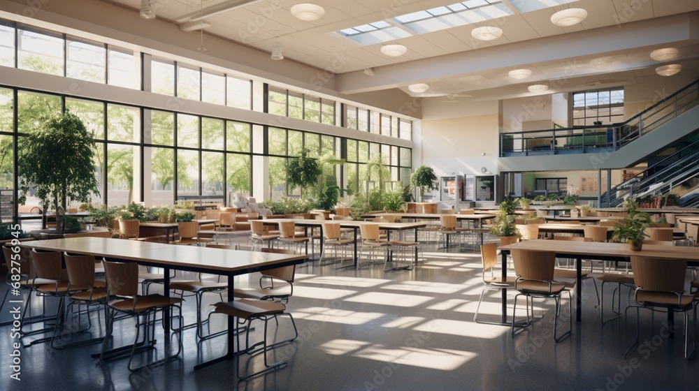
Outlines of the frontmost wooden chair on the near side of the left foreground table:
{"type": "MultiPolygon", "coordinates": [[[[138,264],[136,263],[109,262],[105,260],[103,264],[107,279],[108,322],[99,360],[110,360],[128,353],[129,371],[138,371],[146,367],[150,368],[164,364],[180,355],[180,351],[182,351],[182,309],[180,308],[180,302],[182,302],[182,299],[178,297],[164,297],[162,295],[138,295],[138,264]],[[168,310],[172,316],[175,308],[178,309],[178,319],[176,321],[180,325],[178,329],[173,330],[178,335],[177,351],[168,357],[154,360],[141,367],[132,367],[136,348],[138,347],[140,351],[144,348],[152,348],[155,344],[154,334],[157,312],[168,310]],[[134,337],[134,344],[131,346],[130,351],[128,348],[117,348],[113,349],[113,351],[106,350],[114,330],[114,321],[117,318],[117,313],[122,314],[119,319],[124,318],[124,316],[136,318],[136,337],[134,337]],[[141,334],[141,326],[144,329],[143,341],[138,341],[141,334]]],[[[171,325],[163,325],[163,327],[171,327],[171,325]]],[[[164,338],[166,345],[171,344],[168,343],[169,340],[169,338],[164,338]]]]}

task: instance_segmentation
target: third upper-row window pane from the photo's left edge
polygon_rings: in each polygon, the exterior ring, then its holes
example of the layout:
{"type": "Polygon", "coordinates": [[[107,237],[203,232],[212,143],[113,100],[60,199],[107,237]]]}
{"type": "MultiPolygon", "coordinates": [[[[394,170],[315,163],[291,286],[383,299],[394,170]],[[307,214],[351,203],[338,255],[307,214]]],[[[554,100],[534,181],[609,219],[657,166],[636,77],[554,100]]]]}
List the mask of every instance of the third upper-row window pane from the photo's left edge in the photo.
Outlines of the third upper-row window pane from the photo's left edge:
{"type": "Polygon", "coordinates": [[[103,83],[107,66],[107,50],[101,43],[70,38],[68,40],[66,76],[103,83]]]}

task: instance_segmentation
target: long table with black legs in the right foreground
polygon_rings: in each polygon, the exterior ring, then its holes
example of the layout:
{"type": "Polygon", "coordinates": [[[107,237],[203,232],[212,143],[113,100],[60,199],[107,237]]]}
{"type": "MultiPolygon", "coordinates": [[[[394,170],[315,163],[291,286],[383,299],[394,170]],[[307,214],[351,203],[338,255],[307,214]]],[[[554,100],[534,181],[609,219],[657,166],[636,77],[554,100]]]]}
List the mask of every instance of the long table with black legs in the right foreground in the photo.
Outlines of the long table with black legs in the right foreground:
{"type": "MultiPolygon", "coordinates": [[[[559,258],[575,258],[577,270],[577,286],[575,293],[575,320],[582,318],[582,259],[594,260],[630,260],[631,256],[647,256],[654,258],[689,260],[691,264],[699,262],[699,249],[689,246],[661,246],[658,244],[644,244],[641,251],[633,251],[624,243],[598,243],[598,242],[568,242],[563,240],[526,240],[524,242],[508,244],[500,247],[503,262],[503,279],[507,277],[507,254],[513,249],[533,251],[554,251],[559,258]]],[[[507,322],[507,292],[503,289],[501,321],[507,322]]]]}

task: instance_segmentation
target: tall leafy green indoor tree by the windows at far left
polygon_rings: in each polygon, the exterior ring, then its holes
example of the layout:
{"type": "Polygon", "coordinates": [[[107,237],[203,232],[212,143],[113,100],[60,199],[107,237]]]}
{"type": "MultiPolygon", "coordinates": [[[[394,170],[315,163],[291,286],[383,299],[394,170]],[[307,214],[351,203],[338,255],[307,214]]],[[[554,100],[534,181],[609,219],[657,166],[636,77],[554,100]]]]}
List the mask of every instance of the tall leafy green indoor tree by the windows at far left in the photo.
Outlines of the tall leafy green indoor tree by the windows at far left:
{"type": "Polygon", "coordinates": [[[57,230],[64,230],[62,213],[68,198],[90,202],[98,193],[94,175],[94,139],[80,118],[71,112],[49,117],[36,131],[19,139],[17,171],[20,204],[34,189],[44,210],[57,212],[57,230]]]}

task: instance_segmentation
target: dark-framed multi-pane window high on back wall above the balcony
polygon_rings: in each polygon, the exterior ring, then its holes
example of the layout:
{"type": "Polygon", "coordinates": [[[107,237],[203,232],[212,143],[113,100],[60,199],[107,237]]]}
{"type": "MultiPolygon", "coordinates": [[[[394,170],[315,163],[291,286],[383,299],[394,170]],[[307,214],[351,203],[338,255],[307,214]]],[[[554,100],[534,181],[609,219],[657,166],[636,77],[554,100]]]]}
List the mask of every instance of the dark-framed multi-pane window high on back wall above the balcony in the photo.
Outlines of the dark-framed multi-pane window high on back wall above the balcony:
{"type": "Polygon", "coordinates": [[[624,88],[595,89],[572,94],[572,125],[593,126],[624,121],[624,88]],[[600,123],[601,122],[601,123],[600,123]]]}

